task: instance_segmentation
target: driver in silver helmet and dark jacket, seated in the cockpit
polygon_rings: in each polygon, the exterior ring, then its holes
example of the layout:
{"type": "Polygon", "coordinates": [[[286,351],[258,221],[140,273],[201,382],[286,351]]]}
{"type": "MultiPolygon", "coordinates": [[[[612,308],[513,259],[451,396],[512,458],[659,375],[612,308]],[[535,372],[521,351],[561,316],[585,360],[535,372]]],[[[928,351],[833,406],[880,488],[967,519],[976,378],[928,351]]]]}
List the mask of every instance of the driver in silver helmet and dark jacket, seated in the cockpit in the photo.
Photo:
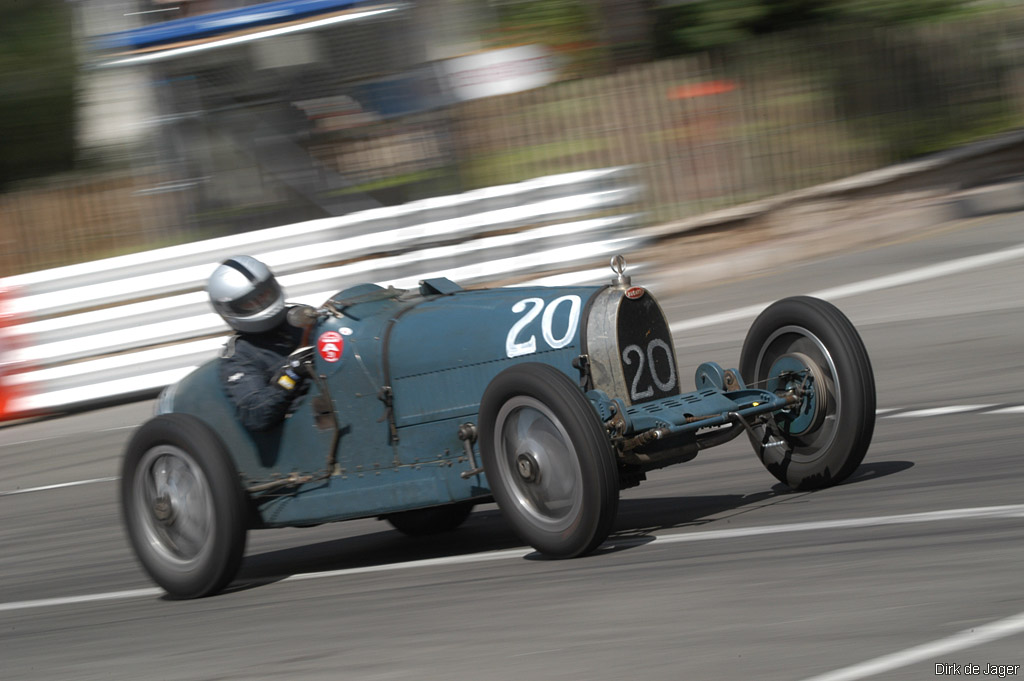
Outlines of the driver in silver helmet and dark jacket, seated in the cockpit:
{"type": "Polygon", "coordinates": [[[285,293],[265,264],[248,255],[221,262],[207,285],[210,302],[234,330],[220,353],[220,381],[250,430],[284,420],[306,379],[302,330],[288,324],[285,293]]]}

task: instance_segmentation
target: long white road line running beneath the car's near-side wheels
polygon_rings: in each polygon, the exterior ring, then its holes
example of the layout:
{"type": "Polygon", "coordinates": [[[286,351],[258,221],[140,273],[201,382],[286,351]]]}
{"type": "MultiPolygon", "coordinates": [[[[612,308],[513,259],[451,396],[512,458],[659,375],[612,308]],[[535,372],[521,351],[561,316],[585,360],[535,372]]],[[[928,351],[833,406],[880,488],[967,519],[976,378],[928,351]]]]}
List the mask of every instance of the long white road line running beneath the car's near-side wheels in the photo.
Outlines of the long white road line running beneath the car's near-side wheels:
{"type": "MultiPolygon", "coordinates": [[[[739,539],[761,535],[777,535],[781,533],[812,531],[817,529],[847,529],[852,527],[877,527],[881,525],[896,525],[916,522],[940,522],[944,520],[976,520],[989,518],[1024,518],[1024,504],[1011,506],[988,506],[980,508],[948,509],[944,511],[928,511],[924,513],[904,513],[900,515],[884,515],[867,518],[848,518],[843,520],[820,520],[814,522],[797,522],[785,525],[762,525],[760,527],[736,527],[732,529],[710,529],[695,533],[680,533],[676,535],[660,535],[644,538],[612,538],[607,542],[611,546],[637,545],[639,547],[651,544],[679,544],[682,542],[703,542],[713,540],[739,539]]],[[[420,567],[438,567],[442,565],[466,565],[473,563],[523,558],[532,554],[528,549],[509,549],[505,551],[489,551],[444,558],[428,558],[408,562],[388,563],[385,565],[368,565],[366,567],[348,567],[326,572],[306,572],[293,574],[284,582],[302,582],[308,580],[324,580],[353,574],[386,572],[399,569],[416,569],[420,567]]],[[[44,598],[40,600],[14,601],[0,603],[0,612],[11,610],[28,610],[75,603],[124,600],[126,598],[141,598],[162,594],[159,589],[134,589],[131,591],[114,591],[104,594],[86,596],[69,596],[65,598],[44,598]]]]}

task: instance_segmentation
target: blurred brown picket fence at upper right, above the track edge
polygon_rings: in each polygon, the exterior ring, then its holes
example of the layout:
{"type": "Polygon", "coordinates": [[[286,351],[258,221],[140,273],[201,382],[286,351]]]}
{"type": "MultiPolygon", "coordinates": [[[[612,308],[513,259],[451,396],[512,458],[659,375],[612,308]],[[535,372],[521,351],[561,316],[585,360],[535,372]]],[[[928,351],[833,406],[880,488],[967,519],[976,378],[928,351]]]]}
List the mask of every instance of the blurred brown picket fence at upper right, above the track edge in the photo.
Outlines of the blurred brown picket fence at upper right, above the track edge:
{"type": "Polygon", "coordinates": [[[1024,14],[766,37],[453,116],[466,184],[629,164],[680,219],[1024,125],[1024,14]]]}

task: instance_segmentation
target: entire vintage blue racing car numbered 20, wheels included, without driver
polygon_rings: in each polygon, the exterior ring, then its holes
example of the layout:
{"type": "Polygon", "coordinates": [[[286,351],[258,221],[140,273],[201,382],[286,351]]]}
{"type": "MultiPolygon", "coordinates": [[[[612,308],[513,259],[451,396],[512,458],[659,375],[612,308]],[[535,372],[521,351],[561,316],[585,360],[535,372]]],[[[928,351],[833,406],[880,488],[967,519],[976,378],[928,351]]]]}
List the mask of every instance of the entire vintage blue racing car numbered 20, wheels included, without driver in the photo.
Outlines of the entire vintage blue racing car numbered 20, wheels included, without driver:
{"type": "Polygon", "coordinates": [[[233,579],[251,528],[383,517],[425,535],[490,500],[542,554],[580,556],[607,538],[621,490],[737,435],[797,490],[856,469],[874,380],[842,312],[775,302],[738,371],[701,364],[684,392],[665,314],[624,266],[606,286],[436,279],[294,307],[316,349],[280,426],[246,430],[213,360],[133,435],[121,503],[142,566],[172,597],[199,597],[233,579]]]}

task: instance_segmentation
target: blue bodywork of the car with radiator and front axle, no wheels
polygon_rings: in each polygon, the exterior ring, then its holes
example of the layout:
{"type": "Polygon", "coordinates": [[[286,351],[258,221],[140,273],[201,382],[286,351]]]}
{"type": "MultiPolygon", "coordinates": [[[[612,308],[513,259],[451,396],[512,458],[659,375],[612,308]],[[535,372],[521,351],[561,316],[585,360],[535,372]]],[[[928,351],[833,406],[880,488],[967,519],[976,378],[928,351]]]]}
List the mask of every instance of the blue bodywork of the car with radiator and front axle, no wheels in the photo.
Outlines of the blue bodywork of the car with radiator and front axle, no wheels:
{"type": "MultiPolygon", "coordinates": [[[[262,526],[488,499],[478,453],[460,426],[476,420],[487,384],[518,363],[547,364],[580,381],[602,417],[617,411],[628,419],[623,436],[742,408],[710,381],[705,394],[680,399],[668,324],[639,287],[466,291],[436,280],[417,292],[362,285],[326,307],[335,311],[322,314],[309,337],[319,381],[276,428],[251,432],[239,423],[216,360],[161,399],[161,413],[194,415],[220,436],[243,487],[254,491],[262,526]],[[317,400],[322,392],[330,405],[317,400]],[[301,482],[310,476],[318,479],[301,482]]],[[[772,398],[741,392],[759,397],[761,411],[772,398]]],[[[669,451],[676,454],[665,463],[695,454],[669,451]]]]}

